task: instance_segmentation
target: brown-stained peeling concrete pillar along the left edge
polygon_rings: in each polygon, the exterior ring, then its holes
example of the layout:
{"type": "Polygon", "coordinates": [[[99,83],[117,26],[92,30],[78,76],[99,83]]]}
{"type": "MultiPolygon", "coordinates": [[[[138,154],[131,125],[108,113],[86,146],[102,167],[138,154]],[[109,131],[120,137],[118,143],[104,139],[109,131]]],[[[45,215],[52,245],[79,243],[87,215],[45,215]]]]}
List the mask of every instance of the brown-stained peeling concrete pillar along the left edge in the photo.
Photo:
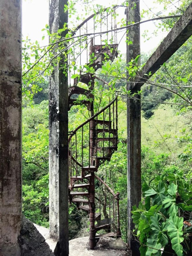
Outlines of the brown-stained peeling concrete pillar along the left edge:
{"type": "Polygon", "coordinates": [[[21,0],[0,1],[0,255],[21,255],[21,0]]]}

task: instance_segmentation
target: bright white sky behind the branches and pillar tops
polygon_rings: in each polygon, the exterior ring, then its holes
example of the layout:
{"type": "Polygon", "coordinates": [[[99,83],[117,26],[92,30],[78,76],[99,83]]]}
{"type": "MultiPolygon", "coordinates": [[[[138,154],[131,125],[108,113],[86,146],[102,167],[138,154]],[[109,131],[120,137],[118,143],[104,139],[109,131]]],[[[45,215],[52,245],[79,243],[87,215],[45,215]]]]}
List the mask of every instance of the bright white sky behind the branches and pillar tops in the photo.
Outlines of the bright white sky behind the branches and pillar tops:
{"type": "MultiPolygon", "coordinates": [[[[114,1],[105,0],[105,5],[110,6],[111,3],[114,1]],[[109,5],[107,4],[109,3],[109,5]]],[[[156,7],[156,13],[158,11],[163,10],[163,7],[157,5],[154,0],[141,0],[141,7],[142,10],[147,9],[147,6],[156,7]],[[146,4],[147,3],[147,6],[146,4]]],[[[95,3],[103,4],[103,0],[95,0],[95,3]]],[[[115,4],[117,0],[115,1],[115,4]]],[[[83,10],[83,6],[78,8],[79,10],[83,10]]],[[[169,9],[170,10],[170,9],[169,9]]],[[[166,13],[164,13],[166,15],[166,13]]],[[[45,24],[48,24],[49,21],[49,0],[24,0],[23,7],[22,7],[22,34],[23,37],[26,38],[28,35],[32,41],[38,40],[40,41],[41,45],[46,45],[48,43],[48,36],[42,41],[42,36],[44,35],[44,31],[41,31],[42,28],[45,28],[45,24]]],[[[155,26],[153,22],[147,22],[141,24],[141,34],[144,30],[148,30],[150,35],[152,35],[155,26]]],[[[141,52],[148,52],[151,49],[156,48],[159,45],[159,42],[166,36],[165,32],[159,32],[158,37],[152,35],[152,39],[144,42],[143,37],[141,37],[141,52]]],[[[124,47],[121,47],[122,49],[124,47]]],[[[124,50],[122,50],[122,53],[124,50]]],[[[124,48],[125,49],[125,48],[124,48]]]]}

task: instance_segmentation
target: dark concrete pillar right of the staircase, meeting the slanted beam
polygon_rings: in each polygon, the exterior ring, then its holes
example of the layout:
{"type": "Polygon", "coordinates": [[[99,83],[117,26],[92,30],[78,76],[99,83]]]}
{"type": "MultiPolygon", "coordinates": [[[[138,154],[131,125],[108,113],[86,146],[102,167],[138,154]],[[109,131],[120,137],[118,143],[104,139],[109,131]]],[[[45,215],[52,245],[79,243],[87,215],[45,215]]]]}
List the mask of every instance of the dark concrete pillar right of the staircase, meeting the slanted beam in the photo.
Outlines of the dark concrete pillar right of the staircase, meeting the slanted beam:
{"type": "MultiPolygon", "coordinates": [[[[127,22],[140,21],[139,0],[130,0],[127,9],[127,22]],[[136,4],[136,7],[134,7],[136,4]],[[133,8],[132,8],[133,7],[133,8]]],[[[129,29],[129,40],[132,45],[127,45],[127,63],[140,55],[140,25],[129,29]]],[[[140,62],[140,61],[139,61],[140,62]]],[[[140,64],[138,62],[138,65],[140,64]]],[[[129,74],[127,74],[129,77],[129,74]]],[[[127,81],[127,90],[131,90],[131,83],[127,81]]],[[[132,93],[137,91],[132,90],[132,93]]],[[[139,243],[134,242],[132,231],[134,224],[131,219],[133,205],[139,204],[141,200],[141,101],[140,95],[134,96],[138,99],[127,98],[127,194],[128,194],[128,245],[133,255],[140,255],[139,243]]]]}

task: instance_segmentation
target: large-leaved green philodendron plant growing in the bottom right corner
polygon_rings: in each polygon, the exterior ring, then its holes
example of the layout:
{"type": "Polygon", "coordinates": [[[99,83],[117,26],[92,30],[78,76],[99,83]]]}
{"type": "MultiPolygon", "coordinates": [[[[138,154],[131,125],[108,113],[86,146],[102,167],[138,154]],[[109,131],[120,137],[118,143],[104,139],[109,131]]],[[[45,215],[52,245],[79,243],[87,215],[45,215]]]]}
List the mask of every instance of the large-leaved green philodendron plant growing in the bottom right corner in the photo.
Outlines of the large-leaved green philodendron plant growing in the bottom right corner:
{"type": "Polygon", "coordinates": [[[192,255],[192,185],[180,174],[142,186],[145,204],[133,207],[141,256],[192,255]]]}

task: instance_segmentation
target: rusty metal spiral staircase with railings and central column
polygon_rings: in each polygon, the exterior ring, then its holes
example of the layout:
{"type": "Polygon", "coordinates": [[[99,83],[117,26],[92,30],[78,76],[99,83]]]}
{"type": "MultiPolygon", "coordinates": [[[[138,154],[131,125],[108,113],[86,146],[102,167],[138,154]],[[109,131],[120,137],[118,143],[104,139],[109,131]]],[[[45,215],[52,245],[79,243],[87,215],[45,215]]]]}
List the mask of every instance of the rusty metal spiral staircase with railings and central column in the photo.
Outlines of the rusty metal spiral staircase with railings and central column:
{"type": "MultiPolygon", "coordinates": [[[[117,47],[111,45],[110,48],[117,47]]],[[[109,54],[113,61],[117,51],[105,48],[103,45],[90,45],[90,56],[96,56],[91,65],[97,70],[102,67],[104,53],[109,54]],[[93,54],[94,53],[94,54],[93,54]]],[[[120,237],[119,193],[113,190],[96,173],[100,165],[110,161],[117,150],[118,143],[118,113],[117,95],[102,110],[94,114],[94,76],[80,74],[79,80],[74,79],[74,86],[69,88],[69,110],[73,105],[87,106],[90,118],[69,132],[69,202],[78,210],[85,211],[90,219],[90,249],[94,249],[99,238],[120,237]],[[77,86],[85,83],[88,89],[77,86]],[[78,95],[86,99],[78,102],[78,95]],[[95,179],[99,189],[95,189],[95,179]],[[96,200],[96,202],[95,202],[96,200]],[[103,211],[101,210],[103,208],[103,211]],[[97,224],[95,224],[97,222],[97,224]]]]}

